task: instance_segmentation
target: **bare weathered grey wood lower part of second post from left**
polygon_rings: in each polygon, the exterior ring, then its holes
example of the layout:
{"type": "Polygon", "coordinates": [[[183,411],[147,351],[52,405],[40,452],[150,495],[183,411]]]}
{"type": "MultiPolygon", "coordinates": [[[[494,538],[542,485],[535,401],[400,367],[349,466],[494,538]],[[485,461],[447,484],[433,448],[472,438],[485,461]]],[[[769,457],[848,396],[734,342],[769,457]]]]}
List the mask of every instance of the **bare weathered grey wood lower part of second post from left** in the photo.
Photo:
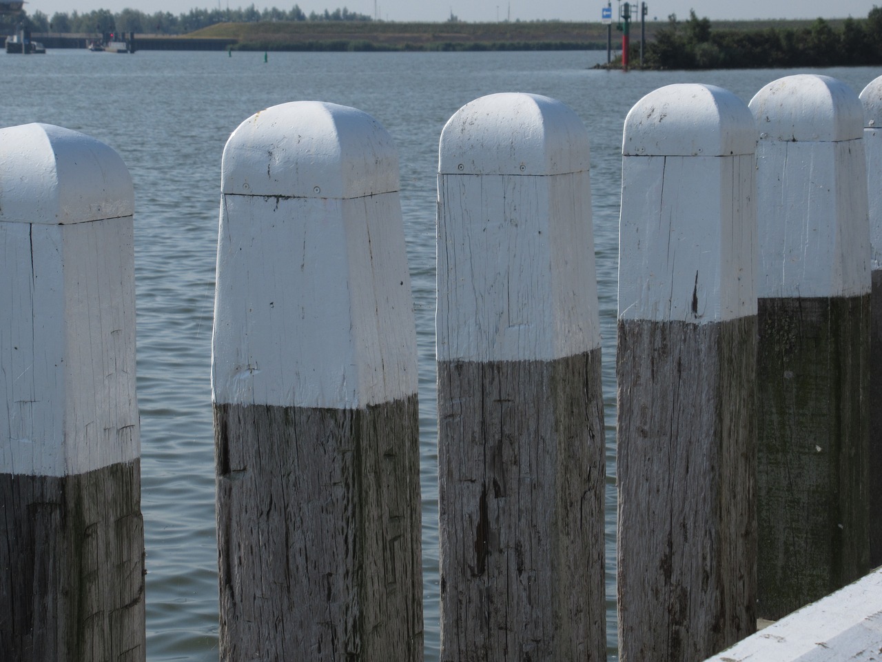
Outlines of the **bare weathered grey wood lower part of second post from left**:
{"type": "Polygon", "coordinates": [[[221,660],[422,660],[417,416],[214,405],[221,660]]]}

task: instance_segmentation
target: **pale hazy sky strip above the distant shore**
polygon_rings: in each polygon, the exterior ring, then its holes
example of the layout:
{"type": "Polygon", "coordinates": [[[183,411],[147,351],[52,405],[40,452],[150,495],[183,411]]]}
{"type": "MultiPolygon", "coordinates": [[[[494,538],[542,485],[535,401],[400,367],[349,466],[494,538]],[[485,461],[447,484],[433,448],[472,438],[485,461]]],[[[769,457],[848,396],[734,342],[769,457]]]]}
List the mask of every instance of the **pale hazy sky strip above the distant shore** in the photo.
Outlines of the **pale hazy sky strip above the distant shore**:
{"type": "MultiPolygon", "coordinates": [[[[170,11],[178,15],[192,8],[235,9],[247,7],[252,0],[30,0],[25,5],[29,13],[42,11],[50,18],[56,11],[73,10],[80,12],[95,9],[121,11],[126,7],[152,14],[156,11],[170,11]]],[[[307,14],[310,11],[322,13],[325,9],[333,11],[338,7],[347,7],[349,11],[357,11],[369,16],[394,21],[444,21],[451,13],[460,20],[468,22],[485,22],[515,19],[520,20],[599,20],[605,0],[254,0],[258,10],[278,7],[288,10],[299,4],[307,14]]],[[[882,4],[882,0],[878,0],[882,4]]],[[[613,0],[612,8],[615,16],[619,3],[613,0]]],[[[866,17],[873,7],[872,2],[861,0],[647,0],[647,20],[667,20],[669,14],[675,13],[678,19],[689,17],[690,9],[694,9],[699,18],[714,19],[844,19],[851,16],[856,19],[866,17]]]]}

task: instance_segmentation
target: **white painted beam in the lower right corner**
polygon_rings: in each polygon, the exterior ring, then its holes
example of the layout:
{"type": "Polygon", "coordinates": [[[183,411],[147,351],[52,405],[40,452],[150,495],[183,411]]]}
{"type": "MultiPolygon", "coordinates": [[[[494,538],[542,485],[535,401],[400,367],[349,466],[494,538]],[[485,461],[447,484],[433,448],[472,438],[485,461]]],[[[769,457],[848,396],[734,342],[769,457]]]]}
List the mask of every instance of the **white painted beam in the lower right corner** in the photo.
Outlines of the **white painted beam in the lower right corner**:
{"type": "Polygon", "coordinates": [[[706,662],[846,662],[880,658],[882,568],[789,614],[706,662]]]}

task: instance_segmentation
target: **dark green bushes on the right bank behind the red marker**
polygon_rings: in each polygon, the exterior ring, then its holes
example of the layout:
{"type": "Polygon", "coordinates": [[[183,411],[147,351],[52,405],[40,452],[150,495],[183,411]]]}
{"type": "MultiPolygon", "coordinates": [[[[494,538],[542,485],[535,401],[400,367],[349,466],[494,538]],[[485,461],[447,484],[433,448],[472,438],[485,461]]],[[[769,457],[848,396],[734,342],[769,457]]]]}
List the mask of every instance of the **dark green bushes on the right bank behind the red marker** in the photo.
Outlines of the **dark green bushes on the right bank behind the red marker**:
{"type": "Polygon", "coordinates": [[[690,11],[647,43],[645,64],[654,69],[751,69],[882,64],[882,9],[866,19],[846,19],[834,29],[824,19],[809,27],[712,30],[708,19],[690,11]]]}

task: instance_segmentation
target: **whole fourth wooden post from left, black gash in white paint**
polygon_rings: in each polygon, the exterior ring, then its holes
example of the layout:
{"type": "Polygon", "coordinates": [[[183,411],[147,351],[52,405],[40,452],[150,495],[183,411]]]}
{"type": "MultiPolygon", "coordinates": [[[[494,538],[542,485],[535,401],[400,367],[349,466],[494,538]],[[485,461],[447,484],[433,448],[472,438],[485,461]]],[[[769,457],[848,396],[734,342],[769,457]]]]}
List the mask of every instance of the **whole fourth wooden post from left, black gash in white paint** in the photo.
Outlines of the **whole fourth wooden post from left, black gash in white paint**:
{"type": "Polygon", "coordinates": [[[719,87],[662,87],[625,119],[622,662],[702,660],[756,626],[755,145],[719,87]]]}

